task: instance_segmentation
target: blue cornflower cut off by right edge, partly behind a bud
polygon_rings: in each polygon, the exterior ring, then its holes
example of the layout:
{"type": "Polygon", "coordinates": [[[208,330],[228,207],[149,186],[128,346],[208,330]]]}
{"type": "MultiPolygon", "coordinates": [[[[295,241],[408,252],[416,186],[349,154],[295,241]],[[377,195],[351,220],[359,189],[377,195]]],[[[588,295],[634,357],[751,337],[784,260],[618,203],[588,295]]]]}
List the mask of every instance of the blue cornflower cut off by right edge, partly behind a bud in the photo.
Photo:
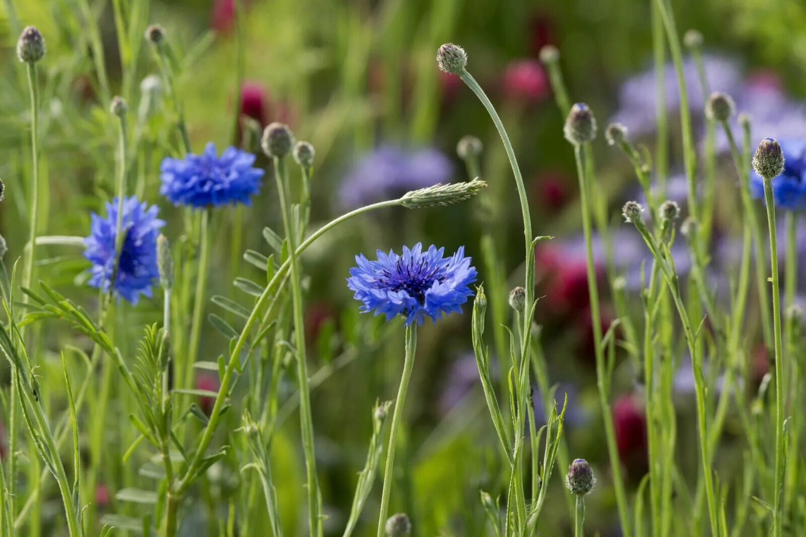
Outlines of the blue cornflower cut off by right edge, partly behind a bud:
{"type": "MultiPolygon", "coordinates": [[[[806,209],[806,140],[779,140],[783,150],[783,173],[772,180],[775,205],[793,211],[806,209]]],[[[764,199],[764,181],[755,171],[750,172],[750,192],[764,199]]]]}

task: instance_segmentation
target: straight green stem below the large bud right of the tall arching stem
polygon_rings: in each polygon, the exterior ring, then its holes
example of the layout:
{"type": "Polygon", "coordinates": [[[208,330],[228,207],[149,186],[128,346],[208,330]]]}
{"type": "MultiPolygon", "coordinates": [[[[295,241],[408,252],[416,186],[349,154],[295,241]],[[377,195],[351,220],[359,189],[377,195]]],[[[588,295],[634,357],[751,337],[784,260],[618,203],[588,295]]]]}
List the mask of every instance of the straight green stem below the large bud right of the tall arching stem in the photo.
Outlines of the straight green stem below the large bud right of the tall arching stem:
{"type": "Polygon", "coordinates": [[[599,389],[602,420],[605,423],[605,438],[607,439],[610,466],[613,472],[613,489],[616,491],[618,516],[621,521],[621,530],[625,535],[632,535],[630,518],[627,512],[627,497],[624,490],[624,481],[621,478],[621,461],[618,458],[616,433],[613,428],[613,414],[610,411],[610,380],[605,367],[605,353],[602,349],[602,328],[599,312],[599,287],[596,283],[596,267],[594,266],[592,246],[592,225],[590,207],[588,205],[588,180],[585,175],[584,147],[575,146],[576,172],[580,182],[580,204],[582,207],[582,228],[585,238],[585,253],[588,266],[588,293],[591,304],[591,322],[593,329],[594,352],[596,357],[596,386],[599,389]]]}

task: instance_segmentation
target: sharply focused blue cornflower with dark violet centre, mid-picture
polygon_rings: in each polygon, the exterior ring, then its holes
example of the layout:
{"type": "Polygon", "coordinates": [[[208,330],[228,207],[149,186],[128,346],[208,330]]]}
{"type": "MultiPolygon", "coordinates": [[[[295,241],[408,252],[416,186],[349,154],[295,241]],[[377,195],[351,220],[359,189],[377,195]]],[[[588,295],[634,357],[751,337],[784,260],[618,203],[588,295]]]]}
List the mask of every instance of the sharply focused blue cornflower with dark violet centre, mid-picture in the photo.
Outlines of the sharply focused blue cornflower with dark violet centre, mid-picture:
{"type": "Polygon", "coordinates": [[[403,246],[403,255],[378,250],[377,261],[356,255],[358,266],[350,269],[347,287],[364,302],[361,312],[374,309],[386,320],[402,315],[405,324],[422,324],[426,316],[436,322],[442,313],[461,313],[459,305],[473,294],[468,286],[476,281],[476,268],[464,257],[464,246],[449,258],[442,257],[444,252],[433,245],[423,252],[418,242],[411,250],[403,246]]]}

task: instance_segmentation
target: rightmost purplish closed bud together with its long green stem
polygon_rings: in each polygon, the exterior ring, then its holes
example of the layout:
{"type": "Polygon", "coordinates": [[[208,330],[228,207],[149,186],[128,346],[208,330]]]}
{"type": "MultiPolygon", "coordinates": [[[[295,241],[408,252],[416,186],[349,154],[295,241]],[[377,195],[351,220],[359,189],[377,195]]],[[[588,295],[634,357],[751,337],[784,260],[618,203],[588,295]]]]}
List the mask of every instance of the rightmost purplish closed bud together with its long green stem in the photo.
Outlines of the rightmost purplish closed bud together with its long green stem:
{"type": "Polygon", "coordinates": [[[767,204],[767,225],[770,231],[770,281],[772,283],[772,321],[775,342],[775,489],[773,490],[773,526],[775,537],[783,531],[783,341],[781,336],[781,304],[778,272],[778,244],[775,232],[775,198],[772,180],[783,171],[781,146],[772,138],[764,138],[758,144],[753,157],[753,167],[764,180],[764,201],[767,204]]]}

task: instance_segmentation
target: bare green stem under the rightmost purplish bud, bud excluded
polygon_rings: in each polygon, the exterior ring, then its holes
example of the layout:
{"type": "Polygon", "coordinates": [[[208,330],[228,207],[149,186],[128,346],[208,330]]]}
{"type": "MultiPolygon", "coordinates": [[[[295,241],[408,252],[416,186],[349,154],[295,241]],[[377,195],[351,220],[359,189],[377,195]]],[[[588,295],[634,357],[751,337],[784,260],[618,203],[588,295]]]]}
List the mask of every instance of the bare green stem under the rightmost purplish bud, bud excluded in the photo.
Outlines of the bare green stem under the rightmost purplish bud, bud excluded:
{"type": "Polygon", "coordinates": [[[773,535],[779,537],[783,526],[783,343],[781,341],[781,305],[778,274],[778,245],[775,235],[775,199],[772,178],[764,177],[764,201],[767,203],[767,225],[770,230],[770,281],[772,282],[772,322],[775,338],[775,501],[773,502],[773,535]]]}

